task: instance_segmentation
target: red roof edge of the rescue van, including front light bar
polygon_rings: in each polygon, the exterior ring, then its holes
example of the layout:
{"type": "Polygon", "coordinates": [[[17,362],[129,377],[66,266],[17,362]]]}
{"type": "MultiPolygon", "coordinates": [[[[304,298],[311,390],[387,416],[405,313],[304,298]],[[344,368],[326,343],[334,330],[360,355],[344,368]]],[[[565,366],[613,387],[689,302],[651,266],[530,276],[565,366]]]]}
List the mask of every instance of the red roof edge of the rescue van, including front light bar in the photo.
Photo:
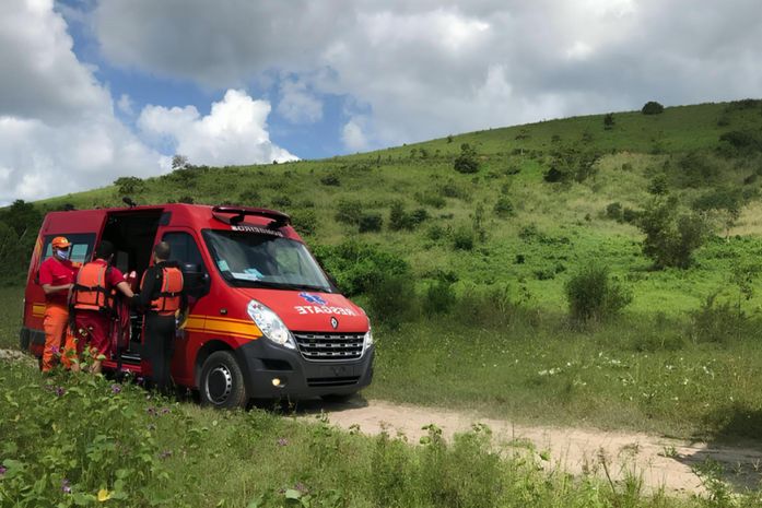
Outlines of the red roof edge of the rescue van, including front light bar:
{"type": "Polygon", "coordinates": [[[291,217],[277,210],[237,205],[207,204],[145,204],[129,208],[104,208],[49,212],[45,216],[43,234],[90,233],[98,231],[105,216],[161,215],[162,226],[188,226],[195,229],[280,232],[284,237],[302,240],[291,226],[291,217]]]}

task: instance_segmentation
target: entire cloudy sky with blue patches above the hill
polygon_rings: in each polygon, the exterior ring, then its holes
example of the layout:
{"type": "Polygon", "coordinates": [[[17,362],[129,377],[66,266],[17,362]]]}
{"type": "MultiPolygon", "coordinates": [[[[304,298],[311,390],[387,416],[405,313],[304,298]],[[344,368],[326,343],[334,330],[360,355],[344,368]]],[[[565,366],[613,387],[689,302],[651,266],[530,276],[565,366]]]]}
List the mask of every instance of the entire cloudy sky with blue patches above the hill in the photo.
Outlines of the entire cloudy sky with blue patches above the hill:
{"type": "Polygon", "coordinates": [[[758,0],[0,0],[0,205],[762,97],[758,0]]]}

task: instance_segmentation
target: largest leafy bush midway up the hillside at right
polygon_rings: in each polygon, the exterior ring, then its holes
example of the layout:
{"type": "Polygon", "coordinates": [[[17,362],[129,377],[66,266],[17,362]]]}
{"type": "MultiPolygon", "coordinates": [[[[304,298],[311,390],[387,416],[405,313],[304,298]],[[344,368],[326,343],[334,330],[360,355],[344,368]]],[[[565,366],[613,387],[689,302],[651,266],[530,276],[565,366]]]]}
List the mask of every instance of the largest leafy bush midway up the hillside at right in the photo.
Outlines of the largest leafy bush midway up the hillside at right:
{"type": "Polygon", "coordinates": [[[641,214],[637,226],[645,233],[643,253],[656,268],[688,268],[692,255],[706,240],[706,218],[696,213],[679,213],[676,199],[655,200],[641,214]]]}

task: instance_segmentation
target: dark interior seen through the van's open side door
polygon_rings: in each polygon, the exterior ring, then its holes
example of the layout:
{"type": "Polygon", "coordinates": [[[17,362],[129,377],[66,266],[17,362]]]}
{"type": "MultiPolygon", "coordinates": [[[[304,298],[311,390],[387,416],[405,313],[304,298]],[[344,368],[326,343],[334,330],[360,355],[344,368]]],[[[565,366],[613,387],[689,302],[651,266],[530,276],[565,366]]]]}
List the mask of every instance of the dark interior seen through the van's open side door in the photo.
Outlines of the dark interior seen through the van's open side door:
{"type": "MultiPolygon", "coordinates": [[[[114,244],[114,265],[125,275],[134,271],[138,291],[143,272],[151,262],[153,243],[159,229],[162,211],[116,212],[108,215],[102,239],[114,244]]],[[[140,363],[140,339],[143,329],[142,315],[130,309],[130,334],[125,351],[114,352],[115,359],[140,363]],[[120,358],[118,354],[120,353],[120,358]]]]}

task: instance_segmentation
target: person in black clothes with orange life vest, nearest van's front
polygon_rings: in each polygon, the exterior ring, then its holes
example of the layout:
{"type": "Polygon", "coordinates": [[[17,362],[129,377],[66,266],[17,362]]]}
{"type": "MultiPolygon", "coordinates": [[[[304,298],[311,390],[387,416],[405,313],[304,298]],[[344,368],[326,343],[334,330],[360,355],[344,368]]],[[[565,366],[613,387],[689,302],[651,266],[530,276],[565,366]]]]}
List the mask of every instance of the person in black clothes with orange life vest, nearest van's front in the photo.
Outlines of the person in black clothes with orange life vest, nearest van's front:
{"type": "Polygon", "coordinates": [[[176,318],[186,307],[183,272],[168,261],[169,244],[161,241],[153,248],[154,264],[143,274],[137,305],[145,311],[145,338],[141,355],[143,376],[149,386],[163,394],[172,388],[169,364],[177,331],[176,318]]]}

